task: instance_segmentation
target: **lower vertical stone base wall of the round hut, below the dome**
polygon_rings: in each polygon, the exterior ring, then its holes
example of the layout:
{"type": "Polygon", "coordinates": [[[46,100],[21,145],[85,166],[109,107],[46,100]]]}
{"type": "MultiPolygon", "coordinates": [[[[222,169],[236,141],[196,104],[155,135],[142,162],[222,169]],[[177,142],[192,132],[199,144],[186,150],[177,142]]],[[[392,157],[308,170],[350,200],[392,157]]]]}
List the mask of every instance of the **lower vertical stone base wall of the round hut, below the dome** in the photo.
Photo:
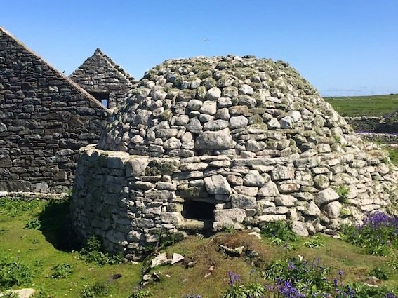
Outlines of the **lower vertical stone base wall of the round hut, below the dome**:
{"type": "Polygon", "coordinates": [[[214,231],[277,219],[291,220],[300,235],[335,230],[384,210],[397,178],[397,168],[360,152],[180,159],[90,146],[81,149],[71,214],[82,239],[98,235],[108,251],[141,259],[162,235],[180,238],[209,221],[214,231]],[[189,204],[203,202],[213,206],[213,218],[192,219],[189,204]]]}

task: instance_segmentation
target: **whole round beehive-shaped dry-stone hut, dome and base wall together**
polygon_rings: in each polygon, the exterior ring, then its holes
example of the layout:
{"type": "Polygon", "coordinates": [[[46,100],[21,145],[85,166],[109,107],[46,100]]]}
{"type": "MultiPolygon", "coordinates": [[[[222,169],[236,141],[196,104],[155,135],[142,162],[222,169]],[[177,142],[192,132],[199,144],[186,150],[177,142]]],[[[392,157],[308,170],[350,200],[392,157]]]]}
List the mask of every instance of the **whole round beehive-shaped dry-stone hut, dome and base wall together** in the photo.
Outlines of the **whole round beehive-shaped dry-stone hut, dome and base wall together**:
{"type": "Polygon", "coordinates": [[[195,57],[154,67],[81,149],[81,237],[140,259],[162,236],[290,220],[308,235],[384,210],[397,168],[285,62],[195,57]]]}

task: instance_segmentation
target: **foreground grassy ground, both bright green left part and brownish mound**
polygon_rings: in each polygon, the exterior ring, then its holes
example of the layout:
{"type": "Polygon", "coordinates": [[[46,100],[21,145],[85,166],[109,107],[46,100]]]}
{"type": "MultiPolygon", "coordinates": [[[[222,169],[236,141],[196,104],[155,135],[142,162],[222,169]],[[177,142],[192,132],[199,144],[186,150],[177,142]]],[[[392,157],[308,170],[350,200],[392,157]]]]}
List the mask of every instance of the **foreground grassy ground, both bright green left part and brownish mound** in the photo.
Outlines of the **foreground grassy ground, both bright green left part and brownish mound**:
{"type": "MultiPolygon", "coordinates": [[[[100,297],[81,292],[90,285],[100,283],[109,286],[109,292],[103,297],[128,297],[140,282],[143,265],[85,264],[79,259],[77,252],[71,251],[75,245],[68,236],[70,229],[65,221],[68,210],[65,202],[27,203],[0,199],[0,258],[11,257],[15,262],[25,264],[33,271],[31,282],[15,285],[14,288],[34,287],[41,290],[42,294],[35,296],[39,298],[85,298],[100,297]],[[29,226],[35,226],[38,222],[36,219],[41,222],[40,230],[25,228],[27,223],[29,226]],[[65,263],[72,265],[72,274],[64,279],[51,278],[53,267],[65,263]],[[121,278],[114,280],[112,276],[115,274],[120,274],[121,278]]],[[[185,262],[173,266],[159,266],[148,272],[157,273],[160,278],[159,282],[150,283],[145,287],[145,290],[150,290],[152,297],[180,298],[185,297],[185,294],[201,294],[201,297],[206,298],[220,297],[227,288],[228,271],[239,273],[245,280],[251,275],[252,269],[256,269],[252,278],[260,278],[260,272],[274,259],[297,255],[302,255],[309,261],[319,258],[321,264],[331,266],[330,278],[336,277],[338,270],[342,269],[345,272],[345,282],[366,281],[366,273],[373,267],[381,266],[390,274],[389,280],[383,281],[382,285],[398,287],[398,272],[389,265],[392,257],[365,255],[361,248],[329,236],[299,238],[286,248],[284,245],[272,244],[267,238],[260,241],[246,232],[232,231],[218,233],[209,238],[190,236],[163,251],[170,256],[173,252],[180,253],[185,256],[185,262]],[[256,251],[258,257],[227,257],[220,250],[220,245],[229,248],[244,246],[245,250],[256,251]],[[188,268],[189,262],[194,265],[188,268]]]]}

